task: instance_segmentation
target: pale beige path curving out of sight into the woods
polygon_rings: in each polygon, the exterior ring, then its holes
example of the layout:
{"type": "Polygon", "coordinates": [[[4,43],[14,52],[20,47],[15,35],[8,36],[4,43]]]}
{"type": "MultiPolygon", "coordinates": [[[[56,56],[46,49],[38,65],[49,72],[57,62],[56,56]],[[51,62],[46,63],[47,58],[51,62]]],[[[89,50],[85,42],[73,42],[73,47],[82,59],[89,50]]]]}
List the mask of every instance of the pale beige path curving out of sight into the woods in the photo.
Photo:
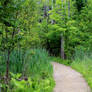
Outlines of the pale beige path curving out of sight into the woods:
{"type": "Polygon", "coordinates": [[[56,86],[54,92],[90,92],[82,75],[72,68],[53,62],[54,79],[56,86]]]}

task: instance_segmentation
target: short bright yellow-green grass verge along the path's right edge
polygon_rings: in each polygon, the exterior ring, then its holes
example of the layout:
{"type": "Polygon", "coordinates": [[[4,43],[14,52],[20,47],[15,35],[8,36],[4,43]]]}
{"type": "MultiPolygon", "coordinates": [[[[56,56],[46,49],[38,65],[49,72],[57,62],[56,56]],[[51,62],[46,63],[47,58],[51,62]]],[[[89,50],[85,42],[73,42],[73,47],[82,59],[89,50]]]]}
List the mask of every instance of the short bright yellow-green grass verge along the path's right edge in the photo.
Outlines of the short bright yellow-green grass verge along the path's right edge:
{"type": "Polygon", "coordinates": [[[86,58],[80,61],[75,60],[71,64],[71,67],[83,75],[92,89],[92,58],[86,58]]]}

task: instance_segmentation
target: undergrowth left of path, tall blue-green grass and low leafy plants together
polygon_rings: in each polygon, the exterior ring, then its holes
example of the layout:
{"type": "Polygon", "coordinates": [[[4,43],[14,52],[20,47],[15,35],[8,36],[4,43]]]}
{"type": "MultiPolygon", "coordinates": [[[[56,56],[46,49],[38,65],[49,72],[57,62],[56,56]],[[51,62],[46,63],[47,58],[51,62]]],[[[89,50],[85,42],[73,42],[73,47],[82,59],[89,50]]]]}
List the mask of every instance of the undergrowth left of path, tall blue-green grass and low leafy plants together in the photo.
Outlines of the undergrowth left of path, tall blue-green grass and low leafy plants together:
{"type": "MultiPolygon", "coordinates": [[[[6,64],[2,55],[0,66],[0,75],[4,76],[6,64]]],[[[44,49],[14,50],[10,55],[9,71],[8,92],[52,92],[54,88],[53,67],[44,49]]],[[[6,92],[4,80],[1,82],[6,92]]]]}

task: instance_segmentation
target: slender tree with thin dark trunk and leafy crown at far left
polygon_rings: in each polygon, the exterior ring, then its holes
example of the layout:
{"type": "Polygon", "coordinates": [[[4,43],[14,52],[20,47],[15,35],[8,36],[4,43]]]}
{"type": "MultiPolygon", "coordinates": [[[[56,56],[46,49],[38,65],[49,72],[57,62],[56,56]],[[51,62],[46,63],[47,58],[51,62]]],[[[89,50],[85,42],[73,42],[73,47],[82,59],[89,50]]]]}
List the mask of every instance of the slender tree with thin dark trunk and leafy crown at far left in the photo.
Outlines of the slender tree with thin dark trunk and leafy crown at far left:
{"type": "MultiPolygon", "coordinates": [[[[0,1],[0,49],[7,54],[6,82],[9,79],[10,54],[24,37],[26,31],[30,31],[33,23],[34,1],[32,0],[2,0],[0,1]],[[29,4],[32,4],[30,6],[29,4]],[[30,21],[27,21],[30,20],[30,21]],[[28,24],[30,27],[28,27],[28,24]],[[25,25],[25,26],[23,26],[25,25]]],[[[28,33],[28,32],[26,32],[28,33]]]]}

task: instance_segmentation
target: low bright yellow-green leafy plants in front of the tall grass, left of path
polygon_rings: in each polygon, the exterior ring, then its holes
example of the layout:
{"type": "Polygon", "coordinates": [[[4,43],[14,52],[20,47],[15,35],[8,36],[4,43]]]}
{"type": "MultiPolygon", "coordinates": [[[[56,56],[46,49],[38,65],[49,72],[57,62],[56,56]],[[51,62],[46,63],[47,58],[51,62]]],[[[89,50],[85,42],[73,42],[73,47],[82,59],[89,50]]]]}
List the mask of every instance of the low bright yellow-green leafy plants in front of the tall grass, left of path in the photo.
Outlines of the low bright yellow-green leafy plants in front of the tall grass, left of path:
{"type": "Polygon", "coordinates": [[[12,75],[13,77],[10,81],[8,92],[51,92],[54,87],[52,78],[31,79],[29,77],[27,80],[19,80],[21,77],[20,74],[12,75]]]}

